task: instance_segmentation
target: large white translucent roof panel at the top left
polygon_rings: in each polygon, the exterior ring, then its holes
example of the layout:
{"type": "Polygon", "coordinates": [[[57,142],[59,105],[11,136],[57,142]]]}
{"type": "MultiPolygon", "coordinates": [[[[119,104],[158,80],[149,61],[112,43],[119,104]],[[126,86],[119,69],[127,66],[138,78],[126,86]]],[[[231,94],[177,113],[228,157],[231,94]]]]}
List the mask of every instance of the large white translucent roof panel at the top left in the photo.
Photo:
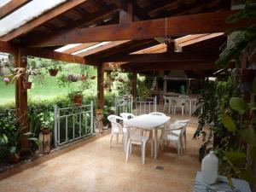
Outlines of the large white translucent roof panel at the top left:
{"type": "Polygon", "coordinates": [[[0,20],[0,37],[66,1],[67,0],[32,0],[32,2],[26,3],[26,5],[22,6],[20,9],[15,10],[14,13],[0,20]]]}

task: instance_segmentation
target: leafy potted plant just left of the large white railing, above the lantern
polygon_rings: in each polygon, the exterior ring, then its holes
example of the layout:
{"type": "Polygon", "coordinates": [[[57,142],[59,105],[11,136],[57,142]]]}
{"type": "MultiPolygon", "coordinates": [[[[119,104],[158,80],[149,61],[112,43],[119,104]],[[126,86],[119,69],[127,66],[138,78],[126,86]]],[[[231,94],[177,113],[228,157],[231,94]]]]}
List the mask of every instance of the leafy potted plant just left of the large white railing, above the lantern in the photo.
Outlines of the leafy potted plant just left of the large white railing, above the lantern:
{"type": "Polygon", "coordinates": [[[38,118],[42,126],[41,132],[44,135],[49,134],[55,121],[55,114],[53,112],[43,112],[38,114],[38,118]]]}

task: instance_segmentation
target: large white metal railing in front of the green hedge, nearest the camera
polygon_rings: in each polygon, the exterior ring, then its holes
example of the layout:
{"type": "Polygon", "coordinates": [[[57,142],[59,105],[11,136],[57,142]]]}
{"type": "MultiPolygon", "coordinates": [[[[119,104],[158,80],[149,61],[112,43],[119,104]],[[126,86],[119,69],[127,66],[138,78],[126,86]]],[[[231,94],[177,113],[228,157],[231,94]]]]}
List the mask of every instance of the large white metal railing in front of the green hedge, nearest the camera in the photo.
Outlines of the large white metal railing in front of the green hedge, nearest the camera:
{"type": "Polygon", "coordinates": [[[93,102],[77,108],[55,105],[55,147],[93,133],[93,102]]]}

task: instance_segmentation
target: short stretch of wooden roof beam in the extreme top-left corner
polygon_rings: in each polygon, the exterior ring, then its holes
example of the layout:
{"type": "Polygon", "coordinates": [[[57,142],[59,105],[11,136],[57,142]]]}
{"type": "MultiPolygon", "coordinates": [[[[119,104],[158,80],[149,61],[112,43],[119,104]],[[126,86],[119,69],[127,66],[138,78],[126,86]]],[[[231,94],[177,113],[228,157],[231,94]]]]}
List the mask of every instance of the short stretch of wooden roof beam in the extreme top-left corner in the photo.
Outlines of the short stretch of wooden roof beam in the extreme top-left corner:
{"type": "Polygon", "coordinates": [[[3,17],[10,15],[15,12],[16,9],[20,9],[20,7],[24,6],[26,3],[31,2],[32,0],[11,0],[9,3],[3,5],[0,8],[0,19],[3,17]]]}

